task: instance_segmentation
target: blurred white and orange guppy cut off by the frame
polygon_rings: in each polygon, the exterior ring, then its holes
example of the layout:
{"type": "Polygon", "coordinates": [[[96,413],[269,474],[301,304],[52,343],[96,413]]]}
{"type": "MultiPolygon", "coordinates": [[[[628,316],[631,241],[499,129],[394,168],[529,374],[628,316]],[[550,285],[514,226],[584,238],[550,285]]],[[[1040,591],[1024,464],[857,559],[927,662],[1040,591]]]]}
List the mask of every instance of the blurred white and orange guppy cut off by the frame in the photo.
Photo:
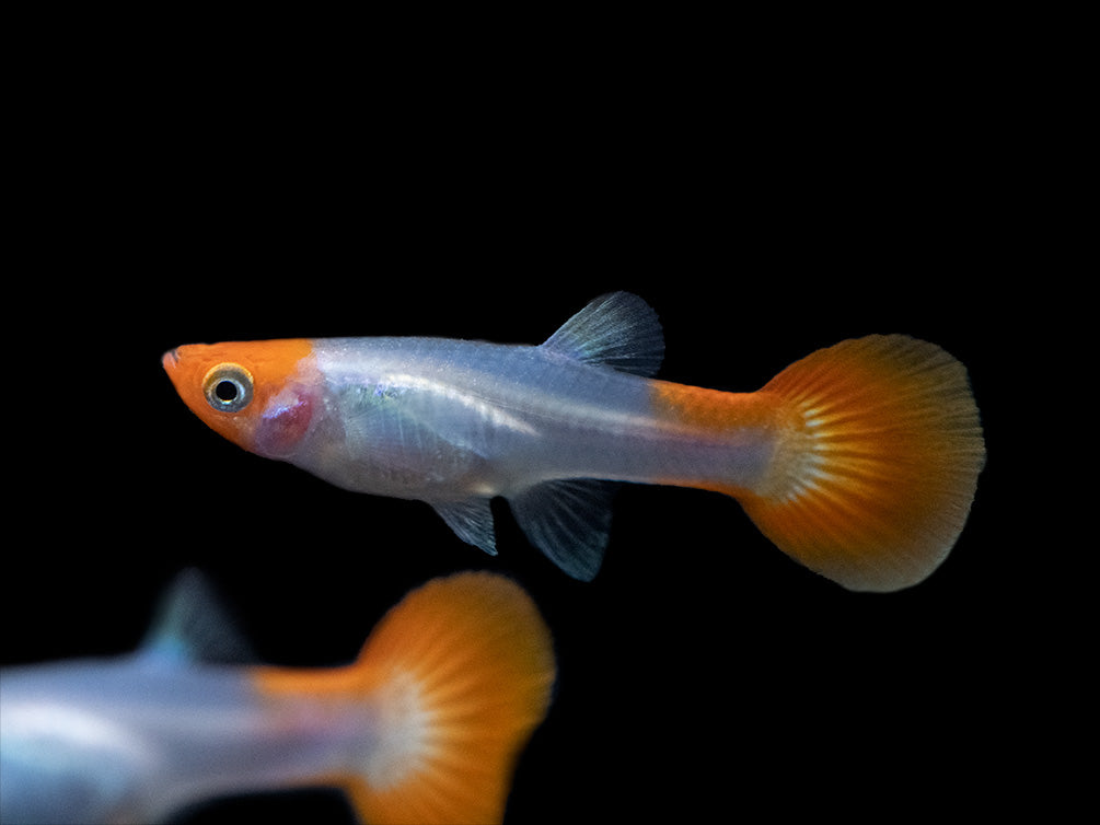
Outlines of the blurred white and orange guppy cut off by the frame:
{"type": "Polygon", "coordinates": [[[519,585],[432,580],[329,670],[204,661],[242,649],[222,615],[190,572],[138,652],[0,671],[0,822],[162,822],[299,785],[370,823],[503,818],[556,670],[519,585]]]}

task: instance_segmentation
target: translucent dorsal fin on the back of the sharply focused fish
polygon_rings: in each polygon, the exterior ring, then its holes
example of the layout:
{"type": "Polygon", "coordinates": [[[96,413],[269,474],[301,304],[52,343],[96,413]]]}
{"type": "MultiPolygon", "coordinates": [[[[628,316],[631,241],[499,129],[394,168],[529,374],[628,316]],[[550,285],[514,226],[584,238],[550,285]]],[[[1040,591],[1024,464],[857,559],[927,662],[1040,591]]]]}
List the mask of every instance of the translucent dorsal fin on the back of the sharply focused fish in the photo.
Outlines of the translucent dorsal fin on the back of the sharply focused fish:
{"type": "Polygon", "coordinates": [[[657,312],[631,293],[596,298],[542,346],[588,364],[646,377],[656,375],[664,360],[664,333],[657,312]]]}

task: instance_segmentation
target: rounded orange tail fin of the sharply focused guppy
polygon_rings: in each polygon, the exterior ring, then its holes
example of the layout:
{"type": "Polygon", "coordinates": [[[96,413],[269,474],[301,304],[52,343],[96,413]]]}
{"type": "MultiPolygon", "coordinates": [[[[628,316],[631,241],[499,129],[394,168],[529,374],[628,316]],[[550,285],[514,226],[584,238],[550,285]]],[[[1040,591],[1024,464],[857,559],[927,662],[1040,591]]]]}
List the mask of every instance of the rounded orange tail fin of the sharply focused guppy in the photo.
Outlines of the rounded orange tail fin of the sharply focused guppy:
{"type": "Polygon", "coordinates": [[[871,336],[818,350],[761,393],[791,411],[769,476],[738,491],[769,539],[851,590],[916,584],[966,522],[985,443],[963,364],[871,336]]]}

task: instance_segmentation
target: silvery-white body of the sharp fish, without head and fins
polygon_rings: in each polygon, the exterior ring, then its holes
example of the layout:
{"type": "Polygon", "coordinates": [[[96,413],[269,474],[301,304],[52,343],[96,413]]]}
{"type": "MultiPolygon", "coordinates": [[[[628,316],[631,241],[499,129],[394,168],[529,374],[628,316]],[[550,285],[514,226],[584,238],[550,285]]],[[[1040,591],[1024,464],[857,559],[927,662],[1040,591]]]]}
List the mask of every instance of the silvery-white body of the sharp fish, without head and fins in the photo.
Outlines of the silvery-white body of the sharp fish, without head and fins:
{"type": "Polygon", "coordinates": [[[323,420],[289,461],[339,486],[432,504],[548,481],[751,485],[772,444],[654,414],[654,382],[548,346],[427,338],[314,342],[323,420]]]}

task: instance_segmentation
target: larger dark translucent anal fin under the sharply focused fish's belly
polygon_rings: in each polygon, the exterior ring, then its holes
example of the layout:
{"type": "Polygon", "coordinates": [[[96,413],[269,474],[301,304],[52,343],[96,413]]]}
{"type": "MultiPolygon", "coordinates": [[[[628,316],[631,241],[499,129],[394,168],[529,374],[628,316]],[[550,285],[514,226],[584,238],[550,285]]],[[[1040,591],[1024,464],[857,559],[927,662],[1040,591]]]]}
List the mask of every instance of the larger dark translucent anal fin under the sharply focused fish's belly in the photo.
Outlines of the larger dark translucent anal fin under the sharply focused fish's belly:
{"type": "Polygon", "coordinates": [[[508,503],[528,541],[565,573],[588,582],[604,559],[618,486],[588,479],[543,482],[508,503]]]}

